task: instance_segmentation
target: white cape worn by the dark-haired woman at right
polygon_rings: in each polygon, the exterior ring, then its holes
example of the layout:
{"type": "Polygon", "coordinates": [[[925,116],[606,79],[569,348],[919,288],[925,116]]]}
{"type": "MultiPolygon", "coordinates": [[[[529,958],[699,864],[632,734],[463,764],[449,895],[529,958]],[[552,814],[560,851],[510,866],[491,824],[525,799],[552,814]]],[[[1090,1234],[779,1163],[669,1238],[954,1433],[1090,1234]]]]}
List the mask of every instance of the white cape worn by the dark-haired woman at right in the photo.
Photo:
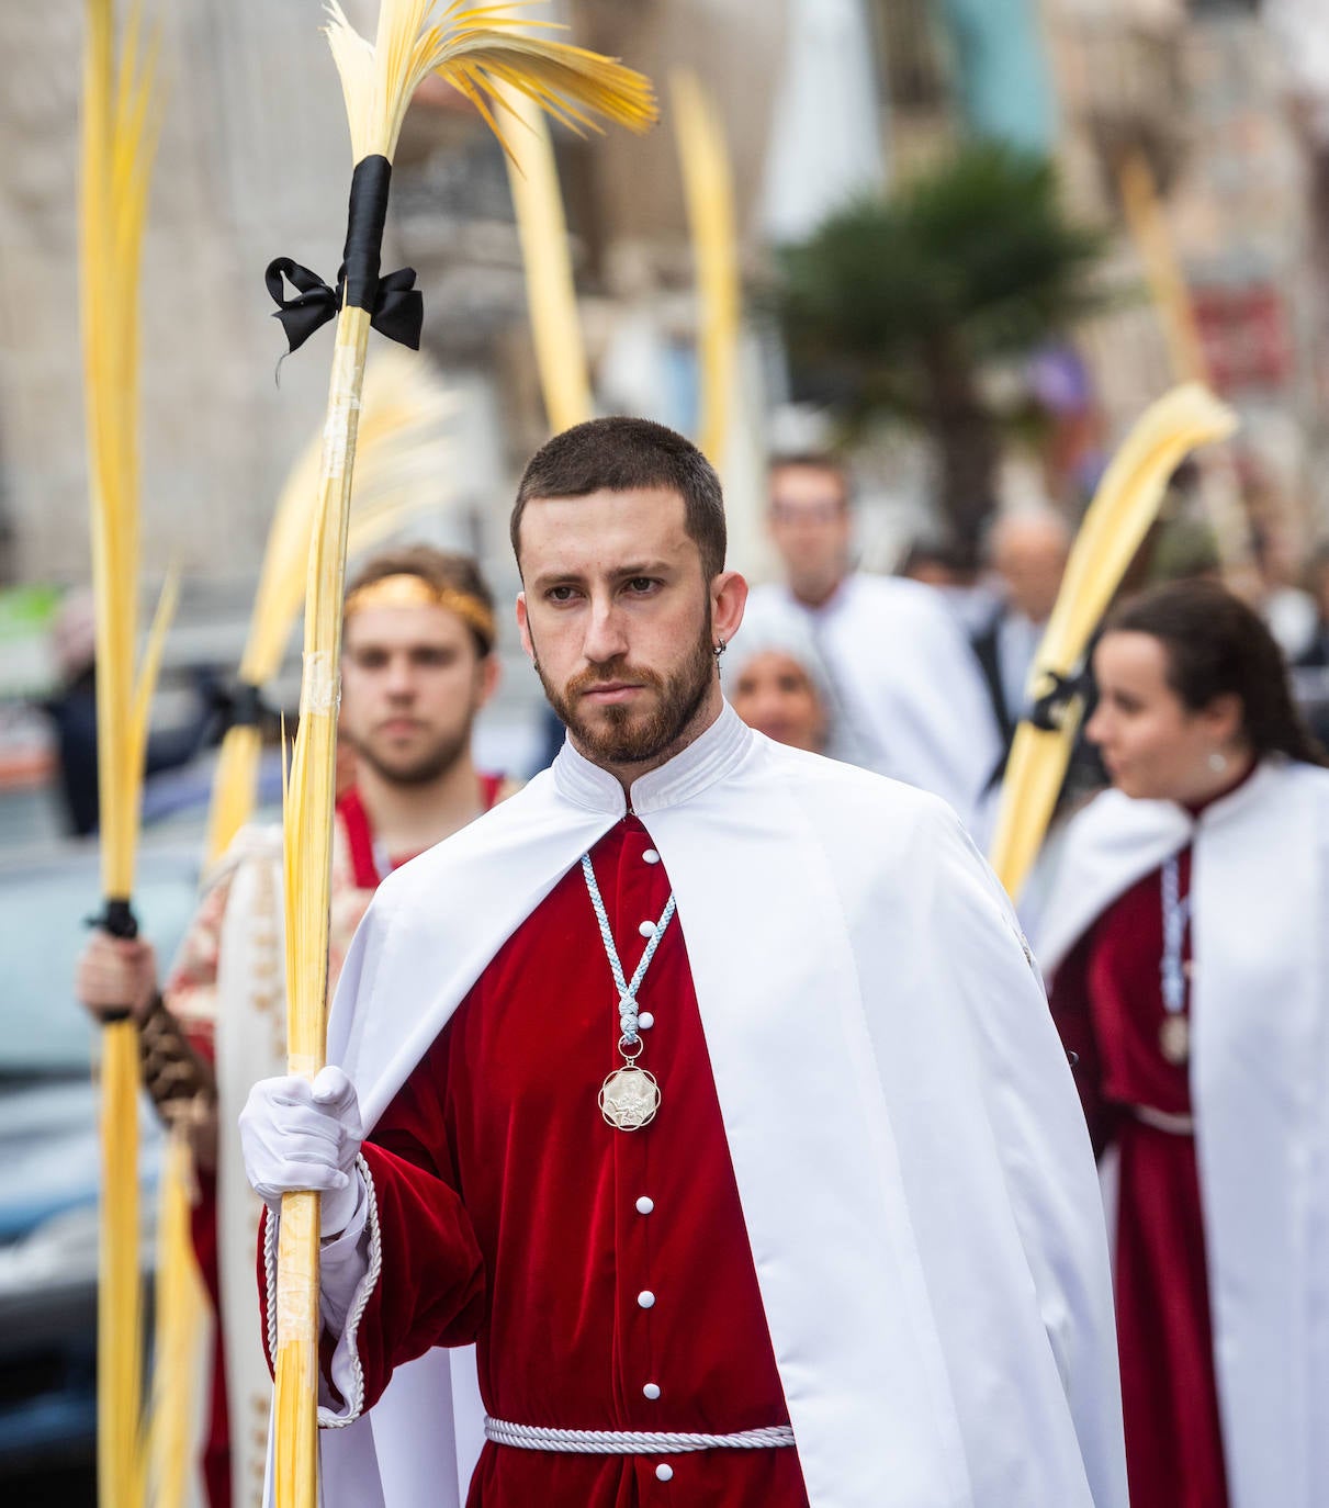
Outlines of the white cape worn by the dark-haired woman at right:
{"type": "Polygon", "coordinates": [[[1038,956],[1193,843],[1190,1090],[1232,1508],[1329,1491],[1329,771],[1269,762],[1198,820],[1095,798],[1038,956]]]}

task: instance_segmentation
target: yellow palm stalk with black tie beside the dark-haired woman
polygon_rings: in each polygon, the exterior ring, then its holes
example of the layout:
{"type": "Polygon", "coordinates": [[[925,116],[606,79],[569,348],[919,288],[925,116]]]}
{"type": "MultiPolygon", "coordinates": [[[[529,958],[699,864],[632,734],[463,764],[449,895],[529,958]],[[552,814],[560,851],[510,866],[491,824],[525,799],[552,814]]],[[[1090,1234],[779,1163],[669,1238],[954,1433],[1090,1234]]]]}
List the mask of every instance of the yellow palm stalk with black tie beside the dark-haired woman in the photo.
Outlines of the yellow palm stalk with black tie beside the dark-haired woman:
{"type": "MultiPolygon", "coordinates": [[[[1083,668],[1089,639],[1159,514],[1168,478],[1198,445],[1223,440],[1235,427],[1232,410],[1199,383],[1174,388],[1136,421],[1076,535],[1033,657],[1027,701],[1047,703],[1083,668]]],[[[1050,725],[1026,718],[1015,731],[990,854],[1012,900],[1020,899],[1042,846],[1082,712],[1082,695],[1071,692],[1053,718],[1042,719],[1050,725]]]]}

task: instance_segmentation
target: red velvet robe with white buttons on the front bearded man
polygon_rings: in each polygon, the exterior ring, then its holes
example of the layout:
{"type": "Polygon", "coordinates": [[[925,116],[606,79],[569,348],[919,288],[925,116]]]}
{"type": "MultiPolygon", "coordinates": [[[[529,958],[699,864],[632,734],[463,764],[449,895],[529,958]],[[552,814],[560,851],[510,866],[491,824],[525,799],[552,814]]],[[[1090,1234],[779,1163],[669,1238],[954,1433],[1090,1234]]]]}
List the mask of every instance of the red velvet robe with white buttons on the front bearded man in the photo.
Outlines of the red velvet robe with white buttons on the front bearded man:
{"type": "MultiPolygon", "coordinates": [[[[593,852],[629,977],[646,947],[640,924],[670,893],[649,843],[626,817],[593,852]]],[[[620,1062],[617,991],[576,866],[493,958],[365,1145],[383,1241],[359,1329],[367,1405],[395,1365],[478,1341],[486,1410],[511,1424],[789,1422],[677,921],[640,1007],[655,1015],[641,1065],[662,1104],[623,1133],[596,1102],[620,1062]]],[[[615,1457],[490,1443],[468,1503],[807,1508],[807,1494],[793,1449],[615,1457]]]]}

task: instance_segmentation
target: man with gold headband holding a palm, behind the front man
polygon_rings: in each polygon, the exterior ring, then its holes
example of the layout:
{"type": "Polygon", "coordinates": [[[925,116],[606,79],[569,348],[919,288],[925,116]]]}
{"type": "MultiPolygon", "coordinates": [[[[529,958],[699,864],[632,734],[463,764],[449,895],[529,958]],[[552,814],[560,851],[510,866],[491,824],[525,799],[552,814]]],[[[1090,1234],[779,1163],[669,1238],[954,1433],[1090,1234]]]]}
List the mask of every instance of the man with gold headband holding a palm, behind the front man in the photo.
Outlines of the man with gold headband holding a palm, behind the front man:
{"type": "MultiPolygon", "coordinates": [[[[336,804],[333,980],[380,879],[513,789],[477,771],[471,754],[475,716],[498,682],[495,638],[493,602],[468,556],[395,549],[350,584],[339,733],[355,775],[336,804]]],[[[195,1249],[226,1318],[204,1463],[211,1508],[262,1497],[272,1386],[253,1295],[261,1205],[234,1137],[250,1084],[285,1062],[281,885],[281,829],[244,828],[207,878],[161,992],[146,941],[97,933],[78,970],[78,997],[94,1013],[134,1003],[145,1084],[163,1114],[187,1114],[193,1133],[195,1249]]]]}

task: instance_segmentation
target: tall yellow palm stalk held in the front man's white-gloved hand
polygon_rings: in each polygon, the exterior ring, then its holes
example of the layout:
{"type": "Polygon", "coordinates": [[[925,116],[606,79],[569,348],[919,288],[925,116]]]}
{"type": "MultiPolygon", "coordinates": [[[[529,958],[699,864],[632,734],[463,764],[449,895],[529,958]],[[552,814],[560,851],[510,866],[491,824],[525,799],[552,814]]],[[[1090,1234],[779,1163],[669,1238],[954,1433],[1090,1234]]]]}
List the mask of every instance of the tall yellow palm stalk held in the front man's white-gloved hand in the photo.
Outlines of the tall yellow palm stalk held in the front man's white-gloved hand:
{"type": "MultiPolygon", "coordinates": [[[[341,75],[358,170],[391,164],[415,89],[439,74],[498,131],[502,86],[573,128],[596,115],[646,127],[650,84],[611,59],[525,35],[508,6],[439,8],[433,0],[382,0],[373,44],[330,6],[327,38],[341,75]],[[373,164],[371,164],[373,166],[373,164]]],[[[543,30],[543,27],[542,27],[543,30]]],[[[377,247],[374,247],[374,258],[377,247]]],[[[376,282],[374,270],[370,282],[376,282]]],[[[374,290],[368,290],[373,303],[374,290]]],[[[336,318],[332,382],[306,579],[300,727],[291,756],[285,820],[287,1042],[293,1074],[323,1066],[327,1012],[327,905],[336,757],[341,597],[351,469],[371,311],[351,287],[336,318]]],[[[287,1194],[278,1237],[275,1494],[278,1508],[315,1508],[318,1497],[318,1196],[287,1194]]]]}

